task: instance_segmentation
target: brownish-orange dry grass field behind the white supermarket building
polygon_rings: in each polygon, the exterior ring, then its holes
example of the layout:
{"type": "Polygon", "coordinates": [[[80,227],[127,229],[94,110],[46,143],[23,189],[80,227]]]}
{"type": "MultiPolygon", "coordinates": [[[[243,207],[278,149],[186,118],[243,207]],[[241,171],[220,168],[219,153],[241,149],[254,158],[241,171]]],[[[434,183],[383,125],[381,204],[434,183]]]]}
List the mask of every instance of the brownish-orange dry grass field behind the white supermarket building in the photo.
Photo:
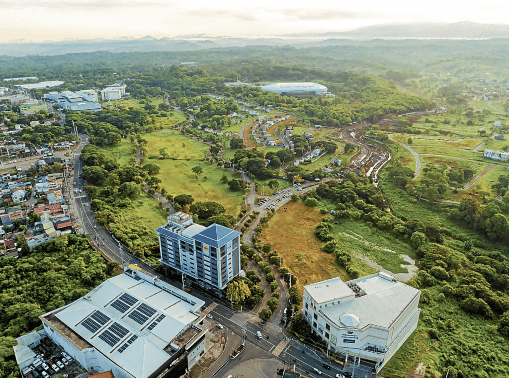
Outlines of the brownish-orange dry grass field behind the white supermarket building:
{"type": "MultiPolygon", "coordinates": [[[[337,276],[350,279],[336,258],[322,251],[325,243],[315,237],[315,227],[322,218],[317,209],[291,202],[274,215],[264,231],[263,242],[270,243],[282,257],[282,266],[295,274],[300,293],[310,283],[337,276]]],[[[360,260],[356,259],[355,264],[365,274],[373,272],[360,260]]]]}

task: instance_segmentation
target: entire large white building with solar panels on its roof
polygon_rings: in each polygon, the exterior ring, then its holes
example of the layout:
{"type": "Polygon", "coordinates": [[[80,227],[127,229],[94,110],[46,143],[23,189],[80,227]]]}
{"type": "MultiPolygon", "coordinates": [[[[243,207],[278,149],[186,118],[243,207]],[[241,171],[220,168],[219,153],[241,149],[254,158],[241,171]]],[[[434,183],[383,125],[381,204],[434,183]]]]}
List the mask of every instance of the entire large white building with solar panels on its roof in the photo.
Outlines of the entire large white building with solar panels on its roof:
{"type": "Polygon", "coordinates": [[[198,313],[204,304],[130,265],[40,318],[47,336],[87,370],[112,370],[117,378],[171,377],[205,354],[208,330],[198,313]]]}

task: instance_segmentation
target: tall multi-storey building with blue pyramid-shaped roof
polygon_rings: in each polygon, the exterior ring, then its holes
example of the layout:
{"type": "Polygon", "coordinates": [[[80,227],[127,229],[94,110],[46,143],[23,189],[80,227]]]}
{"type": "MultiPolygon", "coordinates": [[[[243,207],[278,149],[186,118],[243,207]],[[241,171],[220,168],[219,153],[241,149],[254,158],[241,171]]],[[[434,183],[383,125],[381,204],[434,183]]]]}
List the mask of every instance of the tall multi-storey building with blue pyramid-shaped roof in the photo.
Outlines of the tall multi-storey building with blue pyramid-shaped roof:
{"type": "Polygon", "coordinates": [[[239,231],[216,223],[204,227],[183,212],[169,216],[155,231],[163,267],[217,290],[220,296],[241,271],[239,231]]]}

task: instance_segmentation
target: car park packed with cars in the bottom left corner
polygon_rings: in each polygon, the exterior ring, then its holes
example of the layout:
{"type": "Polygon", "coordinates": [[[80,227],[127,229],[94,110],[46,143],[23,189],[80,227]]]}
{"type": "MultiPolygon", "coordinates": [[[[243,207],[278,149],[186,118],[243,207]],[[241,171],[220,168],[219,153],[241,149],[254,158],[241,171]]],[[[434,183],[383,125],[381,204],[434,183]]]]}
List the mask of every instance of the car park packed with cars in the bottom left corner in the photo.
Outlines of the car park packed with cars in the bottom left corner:
{"type": "Polygon", "coordinates": [[[23,369],[25,378],[50,378],[56,375],[75,378],[86,372],[71,356],[47,337],[41,339],[41,343],[32,350],[36,357],[30,366],[23,369]]]}

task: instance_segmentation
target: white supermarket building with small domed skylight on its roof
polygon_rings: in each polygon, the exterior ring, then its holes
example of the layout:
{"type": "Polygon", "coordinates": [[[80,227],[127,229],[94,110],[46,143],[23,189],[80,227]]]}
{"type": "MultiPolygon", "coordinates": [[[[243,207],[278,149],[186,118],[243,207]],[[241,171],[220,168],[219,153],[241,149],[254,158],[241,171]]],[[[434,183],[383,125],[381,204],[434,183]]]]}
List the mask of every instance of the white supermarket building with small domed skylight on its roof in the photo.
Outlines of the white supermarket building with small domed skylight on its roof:
{"type": "Polygon", "coordinates": [[[417,327],[419,298],[385,272],[336,277],[304,286],[302,315],[328,351],[373,361],[378,373],[417,327]]]}

